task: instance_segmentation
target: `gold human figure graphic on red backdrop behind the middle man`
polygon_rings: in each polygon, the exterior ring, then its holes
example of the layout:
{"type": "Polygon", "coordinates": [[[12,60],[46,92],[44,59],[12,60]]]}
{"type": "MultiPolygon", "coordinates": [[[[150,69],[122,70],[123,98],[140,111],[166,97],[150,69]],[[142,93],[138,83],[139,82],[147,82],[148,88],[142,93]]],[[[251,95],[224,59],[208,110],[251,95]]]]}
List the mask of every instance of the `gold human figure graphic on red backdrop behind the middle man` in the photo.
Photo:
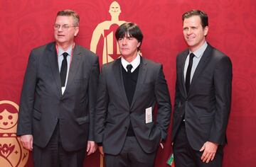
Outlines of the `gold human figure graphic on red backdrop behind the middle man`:
{"type": "Polygon", "coordinates": [[[114,38],[114,32],[117,30],[119,25],[126,21],[119,21],[119,14],[121,8],[117,1],[113,1],[110,4],[111,21],[103,21],[99,23],[92,33],[92,40],[90,43],[90,50],[97,52],[97,45],[102,37],[104,39],[104,45],[102,50],[102,64],[112,62],[120,56],[119,48],[117,46],[117,40],[114,38]]]}

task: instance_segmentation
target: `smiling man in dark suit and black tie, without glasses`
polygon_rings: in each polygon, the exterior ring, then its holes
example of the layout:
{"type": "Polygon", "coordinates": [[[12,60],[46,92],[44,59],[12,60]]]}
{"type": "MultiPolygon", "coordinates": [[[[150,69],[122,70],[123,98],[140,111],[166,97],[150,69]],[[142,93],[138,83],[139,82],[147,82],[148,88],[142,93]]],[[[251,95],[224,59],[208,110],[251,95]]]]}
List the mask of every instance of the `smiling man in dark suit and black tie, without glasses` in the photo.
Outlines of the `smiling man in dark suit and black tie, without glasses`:
{"type": "Polygon", "coordinates": [[[176,59],[174,161],[176,167],[221,166],[231,102],[230,58],[208,42],[208,16],[183,14],[188,49],[176,59]]]}

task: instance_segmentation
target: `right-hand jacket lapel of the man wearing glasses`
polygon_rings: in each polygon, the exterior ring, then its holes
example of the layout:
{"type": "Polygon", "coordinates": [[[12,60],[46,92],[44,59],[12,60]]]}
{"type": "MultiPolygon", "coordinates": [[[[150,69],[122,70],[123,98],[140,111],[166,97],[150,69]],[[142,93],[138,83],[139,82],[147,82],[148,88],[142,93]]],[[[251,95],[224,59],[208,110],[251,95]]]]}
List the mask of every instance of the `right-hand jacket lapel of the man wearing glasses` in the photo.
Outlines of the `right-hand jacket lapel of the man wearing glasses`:
{"type": "Polygon", "coordinates": [[[68,72],[68,82],[67,82],[67,86],[65,88],[65,91],[63,93],[63,96],[65,96],[65,92],[68,91],[71,84],[73,83],[75,73],[79,69],[79,66],[80,66],[80,62],[81,62],[80,58],[81,58],[81,52],[80,52],[80,50],[78,50],[78,47],[76,47],[76,45],[75,45],[75,48],[74,48],[74,51],[73,51],[73,57],[71,59],[70,70],[68,72]]]}

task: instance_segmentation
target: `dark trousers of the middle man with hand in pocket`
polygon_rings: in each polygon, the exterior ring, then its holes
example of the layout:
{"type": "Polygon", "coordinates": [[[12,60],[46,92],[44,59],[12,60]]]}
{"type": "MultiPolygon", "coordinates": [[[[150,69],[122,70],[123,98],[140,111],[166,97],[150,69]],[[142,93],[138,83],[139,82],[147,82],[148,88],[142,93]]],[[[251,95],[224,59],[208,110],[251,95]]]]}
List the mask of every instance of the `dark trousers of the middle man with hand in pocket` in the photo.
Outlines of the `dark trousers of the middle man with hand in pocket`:
{"type": "Polygon", "coordinates": [[[154,167],[155,158],[156,151],[147,154],[136,137],[127,137],[118,155],[105,154],[105,164],[106,167],[154,167]]]}

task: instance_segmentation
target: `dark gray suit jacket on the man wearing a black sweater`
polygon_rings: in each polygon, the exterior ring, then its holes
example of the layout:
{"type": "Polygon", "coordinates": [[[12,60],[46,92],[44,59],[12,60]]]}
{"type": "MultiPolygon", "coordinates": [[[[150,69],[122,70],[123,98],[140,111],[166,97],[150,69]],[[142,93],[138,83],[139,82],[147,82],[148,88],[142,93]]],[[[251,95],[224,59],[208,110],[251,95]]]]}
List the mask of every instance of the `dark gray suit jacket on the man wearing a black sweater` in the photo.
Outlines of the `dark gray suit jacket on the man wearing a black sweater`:
{"type": "Polygon", "coordinates": [[[162,66],[148,59],[141,60],[131,106],[124,91],[121,59],[102,66],[95,114],[95,141],[102,142],[107,154],[119,154],[129,122],[137,141],[147,153],[156,151],[160,139],[166,139],[171,101],[162,66]],[[156,103],[156,119],[146,124],[145,110],[149,107],[154,110],[156,103]]]}

